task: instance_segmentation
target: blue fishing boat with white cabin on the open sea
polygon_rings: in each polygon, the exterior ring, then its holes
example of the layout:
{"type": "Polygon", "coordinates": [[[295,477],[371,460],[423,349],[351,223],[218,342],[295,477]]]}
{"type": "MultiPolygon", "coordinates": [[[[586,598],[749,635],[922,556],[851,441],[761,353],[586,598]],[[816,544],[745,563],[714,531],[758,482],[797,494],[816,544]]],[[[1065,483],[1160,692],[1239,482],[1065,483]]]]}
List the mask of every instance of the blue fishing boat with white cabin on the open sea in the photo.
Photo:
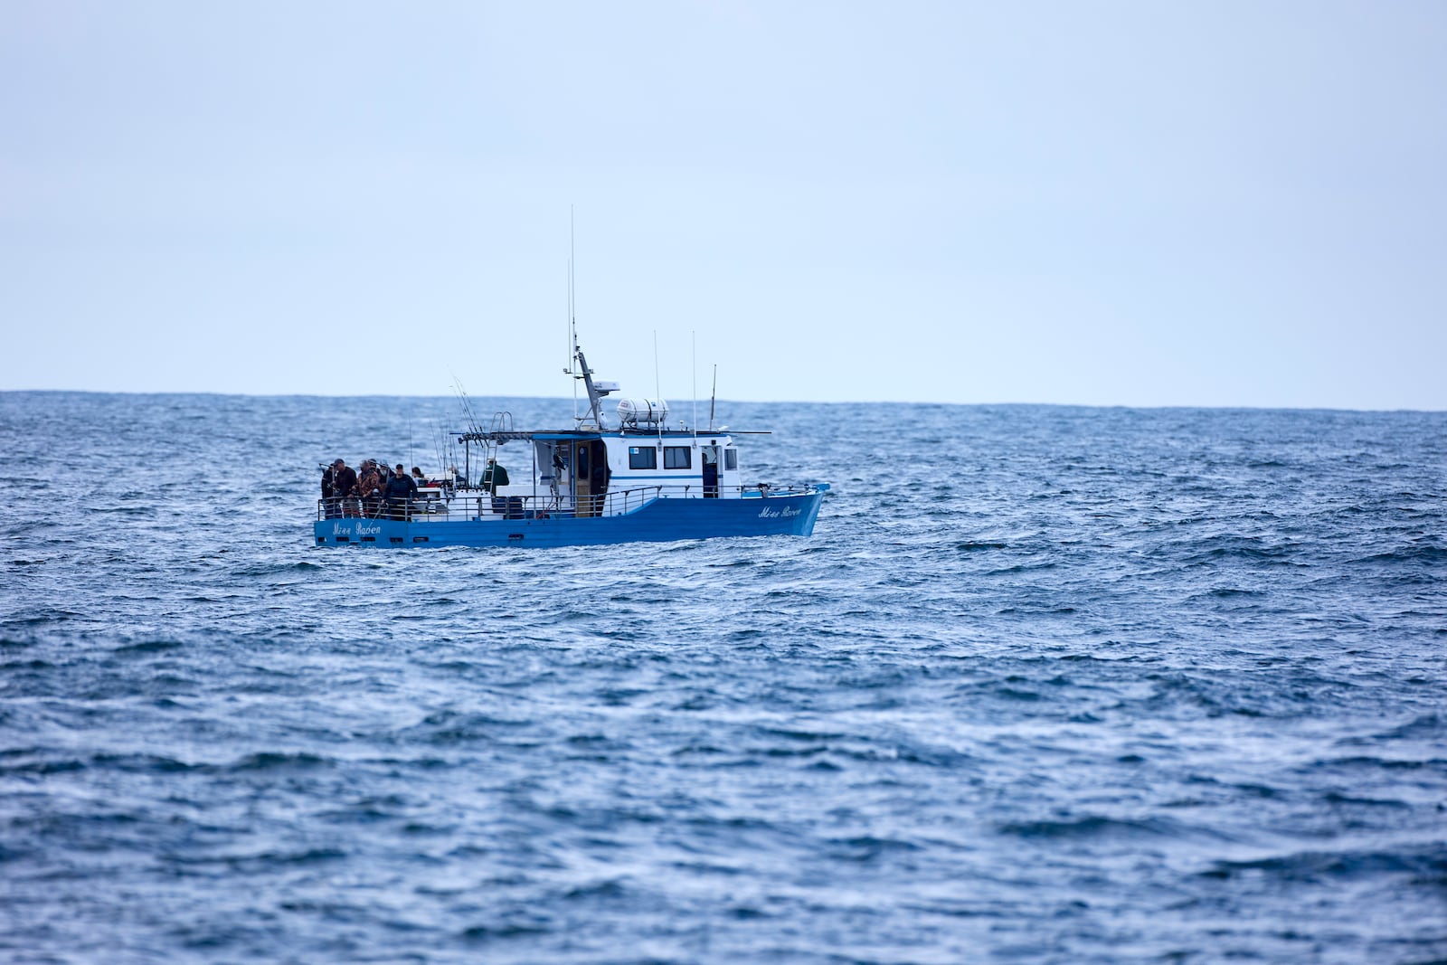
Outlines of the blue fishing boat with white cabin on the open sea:
{"type": "Polygon", "coordinates": [[[619,399],[611,417],[603,399],[618,383],[593,379],[576,333],[573,360],[569,375],[583,383],[589,408],[572,428],[518,431],[506,412],[488,428],[473,422],[454,434],[460,470],[402,498],[323,498],[315,544],[561,547],[813,532],[828,483],[745,483],[726,425],[715,430],[710,415],[708,428],[670,428],[667,404],[654,399],[619,399]],[[515,470],[531,463],[522,479],[499,469],[504,446],[515,470]]]}

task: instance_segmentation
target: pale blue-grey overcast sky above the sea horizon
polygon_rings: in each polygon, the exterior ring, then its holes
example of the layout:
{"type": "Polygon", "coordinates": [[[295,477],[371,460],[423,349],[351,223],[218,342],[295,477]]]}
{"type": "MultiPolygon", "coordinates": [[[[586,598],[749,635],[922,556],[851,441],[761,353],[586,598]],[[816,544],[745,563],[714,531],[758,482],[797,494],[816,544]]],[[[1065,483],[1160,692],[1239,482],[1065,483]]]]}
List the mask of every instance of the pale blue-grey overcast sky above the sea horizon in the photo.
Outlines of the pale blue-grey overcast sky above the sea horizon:
{"type": "Polygon", "coordinates": [[[570,218],[629,395],[1443,409],[1447,3],[0,0],[0,389],[570,395],[570,218]]]}

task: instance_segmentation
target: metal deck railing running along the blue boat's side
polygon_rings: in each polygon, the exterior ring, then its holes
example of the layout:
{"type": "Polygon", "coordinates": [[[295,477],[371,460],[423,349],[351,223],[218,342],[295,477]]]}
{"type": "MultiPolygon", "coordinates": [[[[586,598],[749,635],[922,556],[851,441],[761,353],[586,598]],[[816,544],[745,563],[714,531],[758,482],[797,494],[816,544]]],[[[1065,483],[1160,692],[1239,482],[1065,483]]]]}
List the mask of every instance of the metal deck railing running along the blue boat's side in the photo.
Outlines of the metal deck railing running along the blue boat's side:
{"type": "Polygon", "coordinates": [[[758,499],[809,492],[807,486],[715,486],[700,485],[640,486],[585,496],[553,495],[489,495],[482,490],[459,489],[444,495],[423,492],[410,502],[386,499],[318,499],[317,519],[365,518],[405,522],[443,522],[450,519],[541,519],[547,516],[601,518],[637,512],[658,498],[700,499],[718,493],[724,499],[758,499]]]}

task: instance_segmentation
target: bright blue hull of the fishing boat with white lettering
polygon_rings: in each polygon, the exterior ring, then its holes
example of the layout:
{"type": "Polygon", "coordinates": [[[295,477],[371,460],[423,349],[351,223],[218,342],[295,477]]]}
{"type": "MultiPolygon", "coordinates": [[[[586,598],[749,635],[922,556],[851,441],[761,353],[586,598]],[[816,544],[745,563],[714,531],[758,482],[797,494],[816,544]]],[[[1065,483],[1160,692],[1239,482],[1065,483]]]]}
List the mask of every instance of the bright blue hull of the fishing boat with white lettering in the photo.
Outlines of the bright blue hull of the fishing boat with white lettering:
{"type": "Polygon", "coordinates": [[[667,543],[710,537],[806,537],[813,532],[825,486],[803,495],[767,499],[654,499],[616,516],[567,515],[531,519],[428,516],[395,519],[318,519],[317,545],[369,547],[563,547],[601,543],[667,543]]]}

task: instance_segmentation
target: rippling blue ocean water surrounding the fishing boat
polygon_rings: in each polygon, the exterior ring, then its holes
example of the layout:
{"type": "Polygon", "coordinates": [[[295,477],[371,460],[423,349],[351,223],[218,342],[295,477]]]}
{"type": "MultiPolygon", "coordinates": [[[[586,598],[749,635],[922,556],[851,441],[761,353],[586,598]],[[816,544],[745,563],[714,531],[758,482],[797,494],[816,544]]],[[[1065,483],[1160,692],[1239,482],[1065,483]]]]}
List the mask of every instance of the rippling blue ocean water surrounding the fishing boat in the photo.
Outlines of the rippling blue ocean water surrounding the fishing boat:
{"type": "Polygon", "coordinates": [[[0,394],[0,961],[1447,961],[1447,414],[731,404],[812,538],[311,545],[453,409],[0,394]]]}

